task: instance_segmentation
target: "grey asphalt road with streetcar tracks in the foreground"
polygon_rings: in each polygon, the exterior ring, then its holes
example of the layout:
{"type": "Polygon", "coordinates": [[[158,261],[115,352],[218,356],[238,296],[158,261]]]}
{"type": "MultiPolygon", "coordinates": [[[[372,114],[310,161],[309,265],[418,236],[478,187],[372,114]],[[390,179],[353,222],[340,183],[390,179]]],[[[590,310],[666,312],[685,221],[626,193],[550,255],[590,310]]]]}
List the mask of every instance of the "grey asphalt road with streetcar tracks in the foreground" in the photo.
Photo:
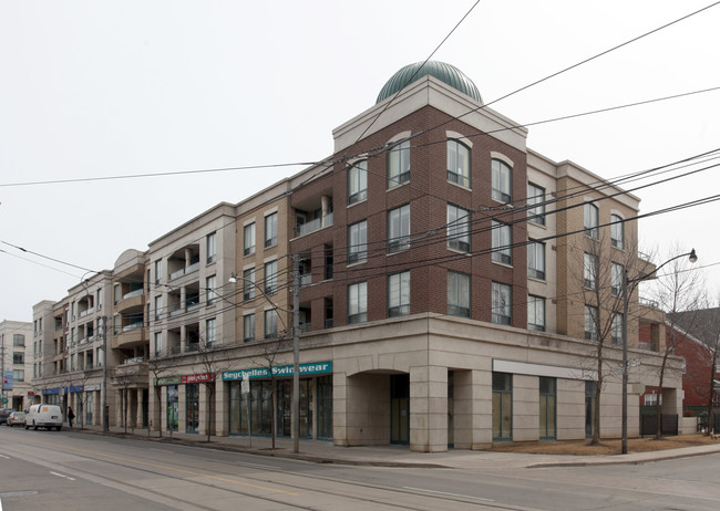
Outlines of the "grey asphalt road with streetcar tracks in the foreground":
{"type": "Polygon", "coordinates": [[[2,511],[712,510],[718,467],[720,455],[583,468],[356,467],[0,428],[2,511]]]}

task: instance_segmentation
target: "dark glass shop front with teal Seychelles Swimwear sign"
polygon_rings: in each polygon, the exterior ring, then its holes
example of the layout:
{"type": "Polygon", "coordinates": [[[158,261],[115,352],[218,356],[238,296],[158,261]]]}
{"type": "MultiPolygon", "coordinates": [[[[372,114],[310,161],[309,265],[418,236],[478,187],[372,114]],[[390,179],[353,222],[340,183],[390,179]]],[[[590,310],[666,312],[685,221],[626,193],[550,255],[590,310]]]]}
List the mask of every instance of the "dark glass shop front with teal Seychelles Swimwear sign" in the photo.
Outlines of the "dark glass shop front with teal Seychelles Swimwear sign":
{"type": "MultiPolygon", "coordinates": [[[[234,371],[228,385],[230,435],[291,436],[292,366],[234,371]]],[[[332,363],[300,365],[300,437],[332,438],[332,363]],[[316,431],[317,430],[317,431],[316,431]],[[317,435],[317,436],[316,436],[317,435]]]]}

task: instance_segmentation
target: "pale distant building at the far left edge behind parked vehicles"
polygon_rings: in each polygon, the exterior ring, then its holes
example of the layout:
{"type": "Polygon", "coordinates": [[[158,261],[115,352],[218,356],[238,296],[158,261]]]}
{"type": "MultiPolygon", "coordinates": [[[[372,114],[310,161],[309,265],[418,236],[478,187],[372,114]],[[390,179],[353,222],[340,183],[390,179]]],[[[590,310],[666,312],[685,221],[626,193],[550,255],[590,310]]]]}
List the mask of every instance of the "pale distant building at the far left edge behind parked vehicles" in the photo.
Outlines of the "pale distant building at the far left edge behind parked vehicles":
{"type": "MultiPolygon", "coordinates": [[[[34,325],[42,330],[42,325],[34,325]]],[[[2,362],[1,408],[24,410],[32,404],[33,324],[22,321],[0,322],[0,361],[2,362]]]]}

